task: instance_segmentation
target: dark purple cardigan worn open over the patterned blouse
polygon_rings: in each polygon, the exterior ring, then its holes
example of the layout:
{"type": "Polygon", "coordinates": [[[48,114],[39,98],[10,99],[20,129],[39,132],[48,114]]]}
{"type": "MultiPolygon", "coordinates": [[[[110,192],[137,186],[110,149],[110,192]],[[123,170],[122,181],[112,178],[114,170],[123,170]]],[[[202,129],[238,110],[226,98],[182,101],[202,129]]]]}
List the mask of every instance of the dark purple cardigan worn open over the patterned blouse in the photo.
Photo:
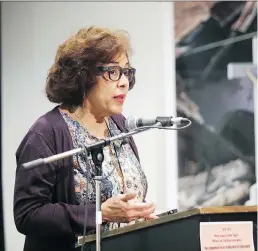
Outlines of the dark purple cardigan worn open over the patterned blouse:
{"type": "MultiPolygon", "coordinates": [[[[125,118],[112,117],[126,132],[125,118]]],[[[131,147],[139,159],[130,138],[131,147]]],[[[76,201],[72,157],[25,170],[22,163],[73,149],[72,138],[58,107],[40,117],[16,152],[14,220],[26,235],[24,251],[71,251],[83,229],[85,206],[76,201]]],[[[88,227],[95,227],[95,205],[88,207],[88,227]]]]}

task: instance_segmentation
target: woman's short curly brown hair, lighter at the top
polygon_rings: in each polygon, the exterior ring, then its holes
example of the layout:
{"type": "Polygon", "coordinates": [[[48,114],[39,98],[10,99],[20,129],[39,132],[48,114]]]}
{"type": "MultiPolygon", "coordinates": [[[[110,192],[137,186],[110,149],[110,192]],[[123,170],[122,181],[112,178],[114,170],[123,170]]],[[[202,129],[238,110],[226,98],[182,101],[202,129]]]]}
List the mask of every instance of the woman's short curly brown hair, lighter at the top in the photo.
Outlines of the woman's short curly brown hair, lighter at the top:
{"type": "MultiPolygon", "coordinates": [[[[57,50],[47,77],[49,101],[65,107],[77,107],[96,83],[96,65],[108,64],[114,56],[131,54],[127,33],[107,28],[90,27],[79,30],[57,50]]],[[[130,82],[130,89],[135,78],[130,82]]],[[[69,109],[70,110],[70,109],[69,109]]]]}

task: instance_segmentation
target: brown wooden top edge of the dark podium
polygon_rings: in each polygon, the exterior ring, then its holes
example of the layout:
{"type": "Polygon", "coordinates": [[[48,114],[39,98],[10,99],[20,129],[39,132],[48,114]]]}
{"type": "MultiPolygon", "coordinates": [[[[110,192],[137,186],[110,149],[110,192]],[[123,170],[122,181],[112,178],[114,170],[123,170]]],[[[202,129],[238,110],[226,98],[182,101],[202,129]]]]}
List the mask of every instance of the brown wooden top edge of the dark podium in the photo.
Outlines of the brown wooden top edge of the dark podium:
{"type": "MultiPolygon", "coordinates": [[[[110,231],[104,232],[102,234],[102,238],[108,238],[108,237],[112,237],[112,236],[116,236],[116,235],[120,235],[128,232],[132,232],[135,230],[140,230],[143,228],[163,224],[170,221],[180,220],[194,215],[255,213],[255,212],[258,212],[258,206],[213,206],[213,207],[193,208],[190,210],[181,211],[175,214],[163,216],[163,217],[160,217],[159,219],[143,221],[143,222],[135,223],[133,225],[122,227],[119,229],[110,230],[110,231]]],[[[85,243],[92,242],[94,240],[96,240],[96,236],[94,234],[88,235],[86,236],[85,243]]],[[[78,244],[82,245],[82,243],[83,243],[83,237],[79,236],[78,244]]]]}

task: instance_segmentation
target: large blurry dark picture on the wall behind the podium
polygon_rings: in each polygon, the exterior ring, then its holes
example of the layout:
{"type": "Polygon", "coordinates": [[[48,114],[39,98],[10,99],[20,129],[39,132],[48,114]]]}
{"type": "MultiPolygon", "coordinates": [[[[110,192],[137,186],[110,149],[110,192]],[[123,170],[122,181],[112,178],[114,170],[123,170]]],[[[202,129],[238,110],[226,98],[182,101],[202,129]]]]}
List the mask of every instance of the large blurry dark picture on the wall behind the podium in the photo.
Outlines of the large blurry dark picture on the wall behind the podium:
{"type": "Polygon", "coordinates": [[[248,205],[256,184],[255,2],[175,2],[178,208],[248,205]]]}

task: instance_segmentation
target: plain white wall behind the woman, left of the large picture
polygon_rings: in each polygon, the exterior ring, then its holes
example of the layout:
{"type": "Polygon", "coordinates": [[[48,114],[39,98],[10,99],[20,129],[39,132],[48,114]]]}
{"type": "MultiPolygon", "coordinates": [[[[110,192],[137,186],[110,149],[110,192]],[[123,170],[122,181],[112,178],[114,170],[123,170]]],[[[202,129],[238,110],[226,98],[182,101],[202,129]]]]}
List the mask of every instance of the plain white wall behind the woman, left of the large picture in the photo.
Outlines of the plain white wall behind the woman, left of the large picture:
{"type": "MultiPolygon", "coordinates": [[[[15,151],[31,124],[54,105],[44,84],[57,46],[89,25],[130,33],[137,85],[126,115],[175,114],[172,3],[2,3],[3,190],[7,251],[21,251],[24,237],[12,215],[15,151]],[[15,241],[14,241],[15,240],[15,241]]],[[[149,131],[135,136],[149,180],[148,199],[158,211],[176,208],[176,133],[149,131]]],[[[61,223],[60,223],[61,224],[61,223]]]]}

